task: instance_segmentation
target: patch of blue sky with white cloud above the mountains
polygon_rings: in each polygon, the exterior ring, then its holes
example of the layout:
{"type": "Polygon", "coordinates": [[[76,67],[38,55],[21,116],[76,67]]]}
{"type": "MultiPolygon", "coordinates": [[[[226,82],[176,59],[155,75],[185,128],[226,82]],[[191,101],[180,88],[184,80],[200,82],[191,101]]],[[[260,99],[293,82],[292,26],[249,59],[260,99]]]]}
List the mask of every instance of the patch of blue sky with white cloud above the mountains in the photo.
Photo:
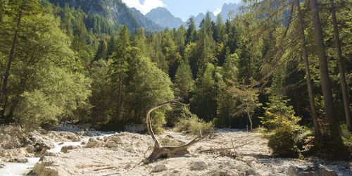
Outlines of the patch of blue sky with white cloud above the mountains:
{"type": "Polygon", "coordinates": [[[122,0],[129,7],[137,8],[144,15],[153,8],[164,7],[183,21],[187,21],[191,15],[206,13],[207,11],[218,15],[222,4],[239,3],[241,0],[122,0]]]}

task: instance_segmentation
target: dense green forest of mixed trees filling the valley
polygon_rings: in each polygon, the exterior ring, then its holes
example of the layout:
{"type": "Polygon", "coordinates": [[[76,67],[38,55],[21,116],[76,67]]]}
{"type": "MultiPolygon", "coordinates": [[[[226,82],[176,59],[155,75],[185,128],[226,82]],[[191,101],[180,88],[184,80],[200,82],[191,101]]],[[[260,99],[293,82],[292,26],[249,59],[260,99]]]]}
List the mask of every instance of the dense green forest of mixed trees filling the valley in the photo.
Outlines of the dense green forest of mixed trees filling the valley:
{"type": "Polygon", "coordinates": [[[346,158],[352,144],[352,1],[243,0],[225,22],[113,25],[49,0],[0,0],[0,123],[146,125],[268,135],[280,156],[346,158]]]}

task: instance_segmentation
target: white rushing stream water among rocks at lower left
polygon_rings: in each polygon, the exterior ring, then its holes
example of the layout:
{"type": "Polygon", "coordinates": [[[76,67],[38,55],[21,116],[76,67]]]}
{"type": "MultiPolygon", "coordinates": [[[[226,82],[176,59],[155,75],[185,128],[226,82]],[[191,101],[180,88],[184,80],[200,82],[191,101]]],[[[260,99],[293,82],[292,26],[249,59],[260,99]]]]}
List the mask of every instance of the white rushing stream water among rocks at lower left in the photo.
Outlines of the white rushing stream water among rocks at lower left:
{"type": "MultiPolygon", "coordinates": [[[[69,130],[68,130],[69,131],[69,130]]],[[[98,137],[108,137],[113,135],[112,132],[97,132],[97,131],[89,131],[94,135],[94,139],[98,137]],[[98,135],[99,134],[99,135],[98,135]]],[[[82,142],[89,141],[91,137],[84,137],[80,142],[63,142],[63,144],[59,145],[61,142],[54,142],[54,149],[50,149],[50,152],[58,153],[61,151],[63,146],[85,146],[82,145],[82,142]]],[[[0,176],[8,175],[8,176],[18,176],[18,175],[27,175],[33,168],[34,165],[39,161],[40,158],[27,158],[28,163],[5,163],[5,167],[0,169],[0,176]]]]}

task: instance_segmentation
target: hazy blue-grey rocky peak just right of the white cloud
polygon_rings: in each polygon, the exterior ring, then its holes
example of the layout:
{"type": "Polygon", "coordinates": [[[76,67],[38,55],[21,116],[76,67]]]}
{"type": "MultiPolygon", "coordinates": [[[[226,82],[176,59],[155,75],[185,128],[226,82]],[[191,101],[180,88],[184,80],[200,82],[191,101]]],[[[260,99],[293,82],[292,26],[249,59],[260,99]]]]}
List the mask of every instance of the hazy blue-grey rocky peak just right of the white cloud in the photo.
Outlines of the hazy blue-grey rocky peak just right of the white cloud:
{"type": "Polygon", "coordinates": [[[151,19],[154,23],[162,27],[178,28],[180,25],[185,25],[181,18],[176,18],[166,8],[154,8],[149,13],[146,13],[146,18],[151,19]]]}

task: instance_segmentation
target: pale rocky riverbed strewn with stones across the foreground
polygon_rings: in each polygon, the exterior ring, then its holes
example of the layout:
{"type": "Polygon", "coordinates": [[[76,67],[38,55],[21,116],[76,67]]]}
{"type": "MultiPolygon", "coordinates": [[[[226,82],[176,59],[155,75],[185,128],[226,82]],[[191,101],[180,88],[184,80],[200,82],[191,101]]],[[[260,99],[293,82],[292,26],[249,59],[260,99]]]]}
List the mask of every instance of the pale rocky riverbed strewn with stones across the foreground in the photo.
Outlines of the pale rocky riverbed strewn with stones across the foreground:
{"type": "MultiPolygon", "coordinates": [[[[19,137],[12,138],[18,142],[12,142],[13,149],[7,149],[11,145],[3,140],[9,139],[6,130],[0,132],[0,157],[5,168],[12,164],[9,162],[33,164],[28,158],[37,157],[34,168],[27,169],[32,170],[32,175],[352,175],[352,163],[346,161],[269,158],[268,139],[242,130],[216,130],[211,137],[191,146],[189,154],[161,158],[147,165],[141,162],[153,146],[147,134],[61,128],[27,136],[18,133],[19,137]]],[[[164,145],[180,145],[194,138],[172,130],[157,137],[164,145]]],[[[0,175],[5,168],[0,169],[0,175]]],[[[21,174],[15,170],[13,173],[21,174]]]]}

